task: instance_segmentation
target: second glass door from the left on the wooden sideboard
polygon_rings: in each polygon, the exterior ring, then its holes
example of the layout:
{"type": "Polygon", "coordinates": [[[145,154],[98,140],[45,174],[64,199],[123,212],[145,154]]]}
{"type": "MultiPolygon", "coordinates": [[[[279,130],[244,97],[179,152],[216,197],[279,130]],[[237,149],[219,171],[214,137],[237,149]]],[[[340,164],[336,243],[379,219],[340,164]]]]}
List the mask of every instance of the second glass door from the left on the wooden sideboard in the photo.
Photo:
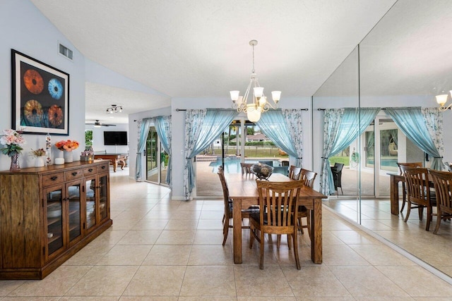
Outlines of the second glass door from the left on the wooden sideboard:
{"type": "Polygon", "coordinates": [[[66,185],[69,213],[69,242],[79,238],[81,231],[81,182],[66,185]]]}

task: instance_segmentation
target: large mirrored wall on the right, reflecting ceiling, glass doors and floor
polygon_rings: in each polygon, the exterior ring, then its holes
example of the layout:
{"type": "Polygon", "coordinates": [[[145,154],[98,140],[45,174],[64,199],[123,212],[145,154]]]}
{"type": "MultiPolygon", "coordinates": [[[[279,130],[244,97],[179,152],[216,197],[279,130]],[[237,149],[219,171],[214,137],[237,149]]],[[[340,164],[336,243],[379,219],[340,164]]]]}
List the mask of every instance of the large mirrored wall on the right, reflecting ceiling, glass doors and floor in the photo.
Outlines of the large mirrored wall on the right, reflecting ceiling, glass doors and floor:
{"type": "MultiPolygon", "coordinates": [[[[312,136],[313,153],[322,154],[323,109],[381,108],[371,122],[361,123],[364,130],[355,141],[328,158],[331,165],[339,162],[344,167],[342,187],[325,204],[450,276],[451,221],[441,223],[434,235],[436,217],[425,231],[425,217],[420,221],[411,214],[404,221],[406,207],[391,214],[390,174],[398,173],[397,163],[422,162],[429,167],[431,159],[403,135],[385,109],[436,107],[434,96],[452,90],[451,32],[451,1],[397,1],[314,94],[312,136]]],[[[452,138],[447,134],[452,113],[448,110],[443,116],[444,161],[452,161],[452,138]]],[[[317,171],[321,161],[314,157],[317,171]]],[[[399,190],[402,195],[401,185],[399,190]]]]}

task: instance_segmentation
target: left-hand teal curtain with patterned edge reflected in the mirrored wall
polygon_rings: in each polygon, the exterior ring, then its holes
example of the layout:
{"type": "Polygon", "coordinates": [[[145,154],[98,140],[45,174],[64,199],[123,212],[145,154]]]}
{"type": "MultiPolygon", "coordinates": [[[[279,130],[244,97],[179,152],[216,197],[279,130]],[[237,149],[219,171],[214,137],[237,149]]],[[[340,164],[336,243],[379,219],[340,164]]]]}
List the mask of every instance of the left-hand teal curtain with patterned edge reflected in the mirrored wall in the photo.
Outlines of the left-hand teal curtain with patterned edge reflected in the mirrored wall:
{"type": "Polygon", "coordinates": [[[343,151],[361,135],[379,113],[379,108],[327,109],[323,130],[323,160],[320,176],[321,192],[334,193],[333,173],[329,157],[343,151]]]}

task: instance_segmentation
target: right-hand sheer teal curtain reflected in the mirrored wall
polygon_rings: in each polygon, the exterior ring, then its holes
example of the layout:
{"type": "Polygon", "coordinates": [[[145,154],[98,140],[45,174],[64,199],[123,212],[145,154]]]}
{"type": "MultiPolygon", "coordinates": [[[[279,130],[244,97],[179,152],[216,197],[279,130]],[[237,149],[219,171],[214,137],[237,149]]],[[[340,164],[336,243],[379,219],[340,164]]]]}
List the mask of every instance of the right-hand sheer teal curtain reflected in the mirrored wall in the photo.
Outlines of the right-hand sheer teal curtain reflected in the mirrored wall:
{"type": "Polygon", "coordinates": [[[386,115],[393,118],[394,123],[417,147],[432,156],[430,168],[441,170],[441,155],[436,149],[429,134],[427,124],[419,107],[386,108],[386,115]]]}

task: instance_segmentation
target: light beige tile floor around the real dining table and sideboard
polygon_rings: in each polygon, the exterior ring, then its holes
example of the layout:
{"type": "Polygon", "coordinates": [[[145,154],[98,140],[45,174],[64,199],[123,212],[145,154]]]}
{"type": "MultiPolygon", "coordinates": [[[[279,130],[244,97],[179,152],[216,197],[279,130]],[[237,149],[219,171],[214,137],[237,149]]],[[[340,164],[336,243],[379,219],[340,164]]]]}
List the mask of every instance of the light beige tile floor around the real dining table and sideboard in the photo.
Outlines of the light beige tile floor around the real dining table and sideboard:
{"type": "Polygon", "coordinates": [[[452,300],[452,285],[328,209],[323,264],[311,262],[306,233],[301,270],[284,239],[280,250],[266,244],[260,270],[244,233],[234,265],[221,201],[172,201],[126,169],[112,173],[113,226],[42,281],[0,281],[1,300],[452,300]]]}

